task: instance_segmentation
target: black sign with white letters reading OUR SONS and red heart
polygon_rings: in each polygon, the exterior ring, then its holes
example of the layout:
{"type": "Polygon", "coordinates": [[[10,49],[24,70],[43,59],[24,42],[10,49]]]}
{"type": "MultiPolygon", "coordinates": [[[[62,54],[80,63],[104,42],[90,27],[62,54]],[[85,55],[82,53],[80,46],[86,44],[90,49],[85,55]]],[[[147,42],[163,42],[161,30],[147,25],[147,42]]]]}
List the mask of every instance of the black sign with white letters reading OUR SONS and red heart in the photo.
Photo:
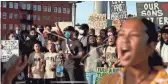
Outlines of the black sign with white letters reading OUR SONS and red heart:
{"type": "Polygon", "coordinates": [[[146,17],[159,26],[168,24],[168,2],[136,3],[137,16],[146,17]]]}

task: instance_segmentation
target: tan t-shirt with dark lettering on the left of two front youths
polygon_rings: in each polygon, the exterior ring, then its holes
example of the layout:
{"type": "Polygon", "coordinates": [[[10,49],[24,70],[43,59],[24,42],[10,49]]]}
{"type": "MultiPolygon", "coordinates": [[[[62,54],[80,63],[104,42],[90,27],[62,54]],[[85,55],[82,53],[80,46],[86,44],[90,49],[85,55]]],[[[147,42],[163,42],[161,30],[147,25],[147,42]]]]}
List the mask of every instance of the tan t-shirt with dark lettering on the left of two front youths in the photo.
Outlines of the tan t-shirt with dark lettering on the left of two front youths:
{"type": "Polygon", "coordinates": [[[41,66],[42,66],[40,61],[42,59],[44,59],[43,53],[35,54],[35,52],[32,52],[29,55],[28,64],[32,65],[31,71],[32,71],[33,78],[43,78],[44,77],[44,72],[40,71],[41,66]]]}

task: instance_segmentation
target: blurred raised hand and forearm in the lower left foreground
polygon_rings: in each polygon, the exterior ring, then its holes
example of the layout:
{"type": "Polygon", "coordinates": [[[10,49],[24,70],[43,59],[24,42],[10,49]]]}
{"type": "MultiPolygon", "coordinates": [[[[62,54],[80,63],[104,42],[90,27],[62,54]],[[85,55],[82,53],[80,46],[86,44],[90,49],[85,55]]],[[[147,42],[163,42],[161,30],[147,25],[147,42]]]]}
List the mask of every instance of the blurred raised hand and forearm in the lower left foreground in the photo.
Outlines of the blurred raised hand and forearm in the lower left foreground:
{"type": "Polygon", "coordinates": [[[24,61],[22,62],[22,57],[23,56],[19,56],[18,60],[16,61],[16,63],[14,65],[12,65],[8,71],[5,73],[4,76],[4,81],[7,81],[7,83],[5,82],[4,84],[10,84],[12,82],[12,80],[20,73],[23,71],[23,69],[26,67],[27,65],[27,56],[24,56],[24,61]]]}

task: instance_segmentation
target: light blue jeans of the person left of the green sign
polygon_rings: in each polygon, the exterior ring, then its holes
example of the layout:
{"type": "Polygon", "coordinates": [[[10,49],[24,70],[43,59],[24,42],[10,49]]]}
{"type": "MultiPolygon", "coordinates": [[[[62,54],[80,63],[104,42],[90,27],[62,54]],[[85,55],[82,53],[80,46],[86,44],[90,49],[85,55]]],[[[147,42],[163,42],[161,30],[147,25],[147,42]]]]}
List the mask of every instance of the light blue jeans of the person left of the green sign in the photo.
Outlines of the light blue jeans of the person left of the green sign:
{"type": "Polygon", "coordinates": [[[97,78],[96,72],[86,72],[85,75],[88,84],[96,84],[96,78],[97,78]]]}

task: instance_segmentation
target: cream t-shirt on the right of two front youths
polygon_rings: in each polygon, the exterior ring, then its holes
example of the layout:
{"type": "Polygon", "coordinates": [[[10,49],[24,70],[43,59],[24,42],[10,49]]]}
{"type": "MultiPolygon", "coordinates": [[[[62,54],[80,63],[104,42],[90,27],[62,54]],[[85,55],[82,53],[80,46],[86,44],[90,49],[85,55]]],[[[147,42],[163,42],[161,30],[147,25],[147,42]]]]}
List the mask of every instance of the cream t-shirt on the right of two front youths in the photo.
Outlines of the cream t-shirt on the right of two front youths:
{"type": "Polygon", "coordinates": [[[61,61],[60,60],[61,55],[59,53],[50,53],[47,52],[44,54],[44,60],[46,61],[45,66],[45,79],[52,79],[56,77],[55,70],[51,71],[50,69],[52,67],[56,68],[56,65],[61,61]]]}

